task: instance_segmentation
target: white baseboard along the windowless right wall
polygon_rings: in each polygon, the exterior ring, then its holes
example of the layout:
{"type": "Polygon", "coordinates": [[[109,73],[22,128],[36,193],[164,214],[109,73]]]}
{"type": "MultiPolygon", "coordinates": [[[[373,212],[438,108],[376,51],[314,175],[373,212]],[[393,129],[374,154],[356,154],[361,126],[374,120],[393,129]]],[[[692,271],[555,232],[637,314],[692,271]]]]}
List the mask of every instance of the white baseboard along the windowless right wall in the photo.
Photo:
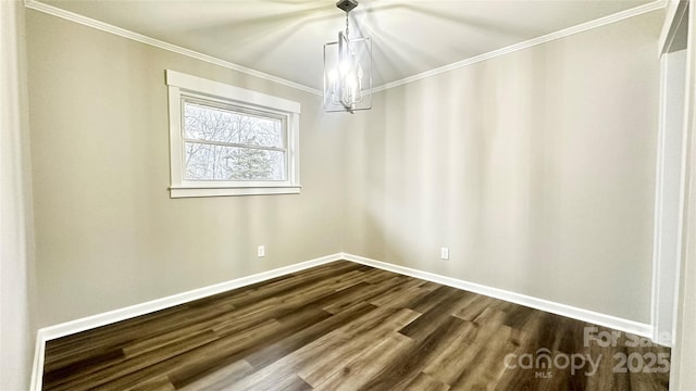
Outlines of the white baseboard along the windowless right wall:
{"type": "Polygon", "coordinates": [[[524,306],[529,306],[535,310],[546,311],[557,315],[562,315],[569,318],[588,321],[598,326],[606,326],[612,329],[634,333],[641,337],[652,338],[652,326],[648,324],[642,324],[634,320],[623,319],[620,317],[597,313],[594,311],[583,310],[574,307],[572,305],[561,304],[544,299],[537,299],[521,293],[510,292],[498,288],[486,287],[480,283],[469,282],[457,278],[446,277],[434,273],[413,269],[410,267],[394,265],[381,261],[366,258],[364,256],[358,256],[352,254],[343,253],[341,258],[346,261],[357,262],[363,265],[378,267],[381,269],[424,279],[449,286],[457,289],[467,290],[474,293],[484,294],[495,299],[508,301],[524,306]]]}

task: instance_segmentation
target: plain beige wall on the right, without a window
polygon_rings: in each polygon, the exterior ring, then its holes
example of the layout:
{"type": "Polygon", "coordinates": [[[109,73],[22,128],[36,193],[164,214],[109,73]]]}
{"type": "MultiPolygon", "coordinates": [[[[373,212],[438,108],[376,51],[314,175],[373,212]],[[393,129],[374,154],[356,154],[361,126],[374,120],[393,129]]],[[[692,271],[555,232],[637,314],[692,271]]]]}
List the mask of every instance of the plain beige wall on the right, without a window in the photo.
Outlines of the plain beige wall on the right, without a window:
{"type": "Polygon", "coordinates": [[[346,133],[345,251],[649,323],[662,17],[381,92],[346,133]]]}

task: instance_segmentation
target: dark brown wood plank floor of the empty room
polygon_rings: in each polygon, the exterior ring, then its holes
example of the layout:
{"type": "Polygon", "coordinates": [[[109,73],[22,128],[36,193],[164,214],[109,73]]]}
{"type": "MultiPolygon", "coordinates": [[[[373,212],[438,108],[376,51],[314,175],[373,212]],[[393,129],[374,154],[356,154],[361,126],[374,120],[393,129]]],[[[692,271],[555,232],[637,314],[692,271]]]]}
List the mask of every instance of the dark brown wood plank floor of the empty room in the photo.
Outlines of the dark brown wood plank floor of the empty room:
{"type": "Polygon", "coordinates": [[[667,390],[669,353],[335,262],[49,341],[44,390],[667,390]]]}

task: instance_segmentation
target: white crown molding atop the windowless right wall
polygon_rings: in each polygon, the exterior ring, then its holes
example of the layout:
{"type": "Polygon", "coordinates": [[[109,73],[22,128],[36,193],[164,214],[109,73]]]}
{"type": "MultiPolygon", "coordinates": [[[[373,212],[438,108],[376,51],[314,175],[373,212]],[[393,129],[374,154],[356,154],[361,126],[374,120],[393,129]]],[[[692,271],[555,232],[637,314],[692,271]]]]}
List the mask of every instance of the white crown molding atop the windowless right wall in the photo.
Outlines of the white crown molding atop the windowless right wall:
{"type": "Polygon", "coordinates": [[[380,91],[384,91],[387,90],[389,88],[394,88],[394,87],[398,87],[398,86],[402,86],[405,84],[408,83],[412,83],[412,81],[417,81],[420,79],[424,79],[426,77],[431,77],[431,76],[436,76],[449,71],[453,71],[460,67],[464,67],[468,65],[472,65],[475,63],[480,63],[482,61],[486,61],[486,60],[490,60],[500,55],[505,55],[508,53],[512,53],[515,52],[518,50],[523,50],[523,49],[527,49],[527,48],[532,48],[535,47],[537,45],[542,45],[542,43],[546,43],[546,42],[550,42],[552,40],[556,39],[560,39],[560,38],[564,38],[564,37],[569,37],[572,36],[574,34],[577,33],[583,33],[593,28],[597,28],[597,27],[601,27],[601,26],[606,26],[608,24],[614,23],[614,22],[619,22],[619,21],[623,21],[630,17],[634,17],[634,16],[638,16],[638,15],[643,15],[644,13],[647,12],[651,12],[651,11],[656,11],[656,10],[660,10],[663,9],[667,5],[667,0],[657,0],[657,1],[652,1],[649,2],[647,4],[643,4],[643,5],[638,5],[635,8],[632,8],[630,10],[625,10],[625,11],[621,11],[621,12],[617,12],[614,14],[611,15],[607,15],[594,21],[589,21],[589,22],[585,22],[572,27],[568,27],[568,28],[563,28],[561,30],[555,31],[555,33],[550,33],[547,34],[545,36],[540,36],[537,38],[533,38],[530,40],[526,40],[524,42],[520,42],[520,43],[515,43],[515,45],[511,45],[505,48],[500,48],[500,49],[496,49],[494,51],[489,51],[487,53],[483,53],[467,60],[462,60],[462,61],[458,61],[456,63],[451,63],[449,65],[445,65],[445,66],[440,66],[434,70],[430,70],[413,76],[409,76],[409,77],[405,77],[402,79],[396,80],[396,81],[391,81],[391,83],[387,83],[384,84],[382,86],[375,87],[372,89],[372,92],[380,92],[380,91]]]}

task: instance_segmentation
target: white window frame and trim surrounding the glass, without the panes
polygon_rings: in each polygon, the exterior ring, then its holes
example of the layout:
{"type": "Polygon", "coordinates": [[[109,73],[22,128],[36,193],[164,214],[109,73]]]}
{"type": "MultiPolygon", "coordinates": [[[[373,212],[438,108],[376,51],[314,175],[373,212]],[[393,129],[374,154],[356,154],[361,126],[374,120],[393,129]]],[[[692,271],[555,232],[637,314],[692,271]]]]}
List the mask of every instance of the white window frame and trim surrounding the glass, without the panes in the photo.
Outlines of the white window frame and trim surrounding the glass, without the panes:
{"type": "Polygon", "coordinates": [[[171,198],[298,194],[300,103],[270,94],[229,86],[223,83],[166,70],[170,106],[170,169],[171,198]],[[185,139],[182,127],[182,108],[185,100],[224,104],[268,112],[285,122],[286,178],[285,180],[187,180],[185,168],[185,139]]]}

